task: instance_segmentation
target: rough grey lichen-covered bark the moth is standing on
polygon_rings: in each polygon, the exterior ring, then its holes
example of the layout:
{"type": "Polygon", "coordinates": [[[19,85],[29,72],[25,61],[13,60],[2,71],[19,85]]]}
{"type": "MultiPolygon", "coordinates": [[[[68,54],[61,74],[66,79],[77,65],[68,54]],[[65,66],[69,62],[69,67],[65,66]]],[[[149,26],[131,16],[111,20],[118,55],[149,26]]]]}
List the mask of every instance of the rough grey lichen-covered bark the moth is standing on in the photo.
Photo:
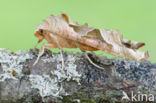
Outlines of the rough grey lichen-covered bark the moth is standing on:
{"type": "Polygon", "coordinates": [[[88,54],[94,63],[105,68],[100,70],[90,64],[83,53],[64,52],[65,67],[61,70],[60,54],[46,50],[33,66],[38,50],[20,53],[0,51],[0,103],[132,103],[122,100],[123,91],[129,97],[132,91],[156,95],[156,65],[149,61],[107,59],[88,54]],[[2,59],[5,52],[10,57],[27,54],[31,57],[7,64],[8,61],[2,59]],[[14,62],[22,66],[21,72],[17,65],[11,67],[14,62]]]}

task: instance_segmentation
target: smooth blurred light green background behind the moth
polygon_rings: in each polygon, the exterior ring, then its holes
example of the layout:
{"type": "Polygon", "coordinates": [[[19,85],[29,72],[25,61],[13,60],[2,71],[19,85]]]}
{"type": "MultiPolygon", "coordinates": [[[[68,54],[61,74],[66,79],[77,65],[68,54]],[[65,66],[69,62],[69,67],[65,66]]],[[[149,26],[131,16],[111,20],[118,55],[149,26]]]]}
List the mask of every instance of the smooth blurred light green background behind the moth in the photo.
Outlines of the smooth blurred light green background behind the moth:
{"type": "Polygon", "coordinates": [[[1,0],[0,48],[32,48],[36,25],[61,11],[80,24],[118,29],[124,38],[145,42],[141,50],[156,62],[156,0],[1,0]]]}

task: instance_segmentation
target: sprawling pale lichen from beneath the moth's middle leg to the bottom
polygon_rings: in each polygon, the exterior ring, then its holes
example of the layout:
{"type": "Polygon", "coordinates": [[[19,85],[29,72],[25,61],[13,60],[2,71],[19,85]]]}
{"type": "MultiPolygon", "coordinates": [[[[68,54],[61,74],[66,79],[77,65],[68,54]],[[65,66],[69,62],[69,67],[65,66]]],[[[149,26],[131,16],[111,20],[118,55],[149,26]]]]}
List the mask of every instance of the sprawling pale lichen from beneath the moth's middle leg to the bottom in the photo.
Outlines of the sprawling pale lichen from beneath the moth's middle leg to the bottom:
{"type": "Polygon", "coordinates": [[[52,55],[52,57],[47,57],[46,55],[41,58],[44,63],[57,63],[56,68],[51,70],[51,75],[30,75],[30,81],[32,88],[39,90],[40,95],[43,100],[47,96],[60,97],[62,95],[68,95],[63,89],[62,81],[74,80],[80,84],[81,74],[76,70],[77,66],[75,64],[76,57],[74,55],[65,56],[65,67],[62,69],[62,58],[60,54],[52,55]]]}

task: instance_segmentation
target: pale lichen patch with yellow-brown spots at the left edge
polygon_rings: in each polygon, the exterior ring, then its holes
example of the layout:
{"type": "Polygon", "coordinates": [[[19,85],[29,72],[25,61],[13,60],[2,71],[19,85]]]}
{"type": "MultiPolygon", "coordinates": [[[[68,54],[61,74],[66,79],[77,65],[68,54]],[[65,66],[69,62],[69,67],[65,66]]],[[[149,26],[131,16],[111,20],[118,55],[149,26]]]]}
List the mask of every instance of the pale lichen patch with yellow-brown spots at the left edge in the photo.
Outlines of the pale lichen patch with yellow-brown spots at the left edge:
{"type": "Polygon", "coordinates": [[[11,52],[0,48],[0,63],[3,73],[0,74],[0,81],[5,79],[17,79],[21,77],[23,65],[26,59],[32,59],[34,56],[29,51],[11,52]]]}

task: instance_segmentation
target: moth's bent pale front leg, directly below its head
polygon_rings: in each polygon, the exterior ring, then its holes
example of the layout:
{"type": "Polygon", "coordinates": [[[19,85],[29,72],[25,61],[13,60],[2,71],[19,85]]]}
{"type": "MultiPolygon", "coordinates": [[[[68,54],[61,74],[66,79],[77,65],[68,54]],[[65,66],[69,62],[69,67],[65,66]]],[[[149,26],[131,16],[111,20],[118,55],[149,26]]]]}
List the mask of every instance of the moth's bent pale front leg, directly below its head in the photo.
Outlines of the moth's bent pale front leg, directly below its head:
{"type": "Polygon", "coordinates": [[[44,53],[45,47],[56,48],[56,46],[54,46],[53,44],[50,44],[50,43],[43,44],[43,45],[41,46],[41,48],[40,48],[38,57],[37,57],[36,61],[34,62],[33,66],[36,65],[36,64],[38,63],[40,57],[41,57],[41,56],[43,55],[43,53],[44,53]]]}

